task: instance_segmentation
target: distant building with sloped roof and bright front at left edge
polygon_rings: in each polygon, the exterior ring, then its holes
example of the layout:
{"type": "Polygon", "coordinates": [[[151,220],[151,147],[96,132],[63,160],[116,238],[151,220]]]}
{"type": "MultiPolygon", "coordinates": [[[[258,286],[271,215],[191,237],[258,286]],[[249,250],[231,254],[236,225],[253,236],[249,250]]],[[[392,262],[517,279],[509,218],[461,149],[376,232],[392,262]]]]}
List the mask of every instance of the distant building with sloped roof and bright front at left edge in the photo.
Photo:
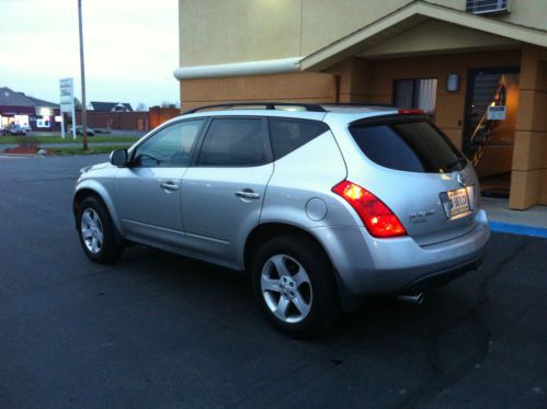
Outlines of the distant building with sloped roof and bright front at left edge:
{"type": "Polygon", "coordinates": [[[60,127],[59,105],[0,87],[0,126],[18,124],[32,130],[57,130],[60,127]]]}

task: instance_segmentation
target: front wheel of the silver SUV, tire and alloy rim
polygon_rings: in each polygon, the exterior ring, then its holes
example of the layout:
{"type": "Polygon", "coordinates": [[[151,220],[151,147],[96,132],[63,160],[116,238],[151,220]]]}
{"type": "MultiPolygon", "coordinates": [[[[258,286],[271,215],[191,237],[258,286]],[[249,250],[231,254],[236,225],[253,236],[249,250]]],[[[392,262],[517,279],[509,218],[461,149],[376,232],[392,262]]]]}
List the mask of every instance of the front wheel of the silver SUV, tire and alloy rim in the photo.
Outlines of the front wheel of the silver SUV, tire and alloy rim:
{"type": "Polygon", "coordinates": [[[123,240],[100,198],[86,197],[80,204],[77,220],[80,245],[91,261],[109,264],[122,255],[123,240]]]}

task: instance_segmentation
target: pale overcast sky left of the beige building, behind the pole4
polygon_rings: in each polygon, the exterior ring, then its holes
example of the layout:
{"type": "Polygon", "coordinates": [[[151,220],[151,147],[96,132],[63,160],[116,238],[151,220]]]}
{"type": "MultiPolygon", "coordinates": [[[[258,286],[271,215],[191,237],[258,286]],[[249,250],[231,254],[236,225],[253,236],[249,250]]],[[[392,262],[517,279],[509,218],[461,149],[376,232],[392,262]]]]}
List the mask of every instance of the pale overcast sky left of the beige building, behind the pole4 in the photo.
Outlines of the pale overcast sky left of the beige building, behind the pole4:
{"type": "MultiPolygon", "coordinates": [[[[82,0],[87,100],[179,102],[178,0],[82,0]]],[[[77,0],[0,0],[0,87],[81,99],[77,0]]]]}

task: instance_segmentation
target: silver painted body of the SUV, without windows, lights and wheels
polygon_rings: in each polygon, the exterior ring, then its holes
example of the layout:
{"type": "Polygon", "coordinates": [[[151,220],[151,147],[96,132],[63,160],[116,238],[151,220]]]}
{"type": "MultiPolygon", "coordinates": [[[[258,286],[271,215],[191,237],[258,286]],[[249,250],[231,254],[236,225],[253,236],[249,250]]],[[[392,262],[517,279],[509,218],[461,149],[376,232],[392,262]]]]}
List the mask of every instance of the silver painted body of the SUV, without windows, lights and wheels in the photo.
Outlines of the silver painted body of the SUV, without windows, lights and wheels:
{"type": "MultiPolygon", "coordinates": [[[[95,166],[83,170],[76,193],[95,192],[124,238],[237,270],[246,269],[243,250],[253,229],[272,223],[301,229],[323,247],[339,281],[360,296],[397,292],[430,273],[482,257],[489,228],[471,164],[454,175],[384,168],[356,146],[349,124],[397,111],[331,111],[226,110],[184,115],[158,129],[186,118],[249,115],[322,121],[330,130],[259,167],[95,166]],[[350,204],[331,191],[345,179],[378,196],[399,217],[408,236],[371,236],[350,204]],[[461,189],[463,181],[470,209],[447,218],[440,193],[461,189]],[[166,189],[167,184],[173,188],[166,189]]],[[[129,155],[158,129],[137,141],[129,155]]]]}

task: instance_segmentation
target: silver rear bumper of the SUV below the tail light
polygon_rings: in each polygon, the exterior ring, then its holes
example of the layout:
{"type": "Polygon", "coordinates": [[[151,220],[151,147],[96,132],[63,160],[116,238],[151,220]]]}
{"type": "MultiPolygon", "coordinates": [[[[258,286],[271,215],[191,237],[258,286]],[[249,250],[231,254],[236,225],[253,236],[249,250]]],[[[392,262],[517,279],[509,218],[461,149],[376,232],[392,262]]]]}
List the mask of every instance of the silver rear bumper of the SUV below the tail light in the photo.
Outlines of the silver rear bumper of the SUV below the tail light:
{"type": "Polygon", "coordinates": [[[477,266],[490,238],[483,211],[465,236],[420,247],[410,237],[375,239],[362,227],[314,229],[352,295],[400,294],[445,284],[477,266]]]}

